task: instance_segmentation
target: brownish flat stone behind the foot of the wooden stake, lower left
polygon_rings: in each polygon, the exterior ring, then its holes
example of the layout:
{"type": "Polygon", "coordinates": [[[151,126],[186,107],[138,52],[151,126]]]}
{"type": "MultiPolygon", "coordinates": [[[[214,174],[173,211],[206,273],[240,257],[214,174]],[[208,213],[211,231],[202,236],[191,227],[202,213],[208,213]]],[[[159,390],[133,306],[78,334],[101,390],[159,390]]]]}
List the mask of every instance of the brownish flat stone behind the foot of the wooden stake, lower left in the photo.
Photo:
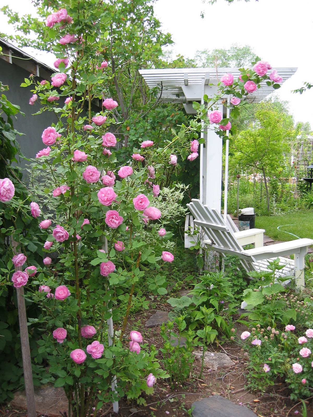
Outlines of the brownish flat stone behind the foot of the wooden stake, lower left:
{"type": "MultiPolygon", "coordinates": [[[[63,388],[44,385],[35,389],[36,412],[50,417],[61,416],[61,412],[68,413],[68,399],[63,388]]],[[[18,391],[11,402],[13,407],[27,410],[25,391],[18,391]]]]}

